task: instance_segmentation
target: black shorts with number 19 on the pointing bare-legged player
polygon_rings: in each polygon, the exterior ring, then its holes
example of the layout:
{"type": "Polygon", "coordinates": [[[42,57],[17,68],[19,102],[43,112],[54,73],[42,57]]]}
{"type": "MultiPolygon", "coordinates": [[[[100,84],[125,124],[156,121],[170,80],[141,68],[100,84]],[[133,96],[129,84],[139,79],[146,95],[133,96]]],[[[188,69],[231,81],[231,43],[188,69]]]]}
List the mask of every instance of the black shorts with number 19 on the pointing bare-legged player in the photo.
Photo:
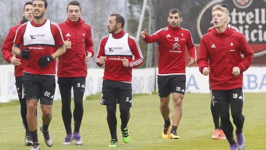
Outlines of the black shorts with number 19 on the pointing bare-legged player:
{"type": "Polygon", "coordinates": [[[185,95],[186,75],[158,75],[158,94],[160,97],[167,97],[170,93],[180,93],[185,95]]]}

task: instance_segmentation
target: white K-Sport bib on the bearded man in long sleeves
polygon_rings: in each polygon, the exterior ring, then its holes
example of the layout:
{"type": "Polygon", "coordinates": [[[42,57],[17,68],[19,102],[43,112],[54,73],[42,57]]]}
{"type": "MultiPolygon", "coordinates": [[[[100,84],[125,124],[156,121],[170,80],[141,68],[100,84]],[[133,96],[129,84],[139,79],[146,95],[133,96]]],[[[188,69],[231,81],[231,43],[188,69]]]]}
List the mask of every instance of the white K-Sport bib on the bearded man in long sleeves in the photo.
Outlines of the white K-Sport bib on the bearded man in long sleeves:
{"type": "Polygon", "coordinates": [[[128,45],[128,33],[125,33],[122,38],[113,38],[112,34],[109,34],[107,42],[105,44],[105,56],[133,56],[128,45]]]}

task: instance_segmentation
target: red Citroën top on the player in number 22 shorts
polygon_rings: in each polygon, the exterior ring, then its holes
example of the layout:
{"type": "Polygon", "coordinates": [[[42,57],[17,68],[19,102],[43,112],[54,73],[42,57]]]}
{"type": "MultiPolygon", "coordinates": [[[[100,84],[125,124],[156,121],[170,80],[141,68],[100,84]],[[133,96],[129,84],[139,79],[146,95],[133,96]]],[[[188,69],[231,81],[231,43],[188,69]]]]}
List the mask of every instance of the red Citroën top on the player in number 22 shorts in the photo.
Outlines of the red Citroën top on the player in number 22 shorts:
{"type": "MultiPolygon", "coordinates": [[[[45,19],[44,22],[40,25],[35,24],[33,20],[28,21],[22,25],[19,26],[15,39],[14,39],[14,44],[16,45],[21,45],[22,43],[25,44],[24,37],[32,37],[32,40],[42,40],[42,41],[47,41],[47,39],[38,37],[40,30],[33,30],[30,31],[31,35],[24,35],[26,31],[26,26],[27,24],[31,24],[32,28],[38,28],[43,25],[47,25],[46,22],[48,19],[45,19]]],[[[50,21],[48,21],[50,22],[50,21]]],[[[47,23],[48,23],[47,22],[47,23]]],[[[52,34],[54,38],[54,45],[46,45],[46,44],[34,44],[34,45],[24,45],[25,48],[29,48],[29,51],[31,52],[30,58],[29,59],[24,59],[23,60],[23,72],[28,72],[32,74],[37,74],[37,75],[55,75],[56,70],[55,70],[55,65],[56,65],[56,59],[53,59],[52,62],[50,62],[47,66],[41,67],[38,65],[39,58],[42,56],[47,56],[47,55],[52,55],[55,51],[57,46],[64,46],[64,41],[63,37],[61,34],[61,30],[59,26],[53,22],[50,22],[50,28],[49,30],[51,31],[50,33],[52,34]]],[[[47,33],[47,34],[50,34],[47,33]]],[[[49,40],[49,39],[48,39],[49,40]]]]}

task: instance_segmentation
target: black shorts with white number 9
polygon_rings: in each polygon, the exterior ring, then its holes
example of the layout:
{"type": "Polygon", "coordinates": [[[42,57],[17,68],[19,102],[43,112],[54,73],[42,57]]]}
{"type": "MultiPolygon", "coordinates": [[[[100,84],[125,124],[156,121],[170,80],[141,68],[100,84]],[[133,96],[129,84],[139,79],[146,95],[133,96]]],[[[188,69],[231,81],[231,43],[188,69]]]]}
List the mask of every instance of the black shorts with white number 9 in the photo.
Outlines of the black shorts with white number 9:
{"type": "Polygon", "coordinates": [[[60,86],[73,87],[73,89],[75,90],[81,90],[84,92],[86,85],[86,77],[58,77],[57,83],[60,86]]]}

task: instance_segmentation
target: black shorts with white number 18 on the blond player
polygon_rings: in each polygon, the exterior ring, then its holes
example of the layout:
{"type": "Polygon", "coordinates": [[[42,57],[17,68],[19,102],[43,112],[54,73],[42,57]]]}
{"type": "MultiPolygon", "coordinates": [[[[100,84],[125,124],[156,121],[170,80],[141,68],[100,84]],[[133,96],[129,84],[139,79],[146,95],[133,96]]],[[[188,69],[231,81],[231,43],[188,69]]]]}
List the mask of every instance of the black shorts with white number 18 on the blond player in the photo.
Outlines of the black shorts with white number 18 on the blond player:
{"type": "Polygon", "coordinates": [[[244,102],[244,93],[242,88],[230,90],[211,90],[212,105],[229,103],[230,101],[244,102]]]}

